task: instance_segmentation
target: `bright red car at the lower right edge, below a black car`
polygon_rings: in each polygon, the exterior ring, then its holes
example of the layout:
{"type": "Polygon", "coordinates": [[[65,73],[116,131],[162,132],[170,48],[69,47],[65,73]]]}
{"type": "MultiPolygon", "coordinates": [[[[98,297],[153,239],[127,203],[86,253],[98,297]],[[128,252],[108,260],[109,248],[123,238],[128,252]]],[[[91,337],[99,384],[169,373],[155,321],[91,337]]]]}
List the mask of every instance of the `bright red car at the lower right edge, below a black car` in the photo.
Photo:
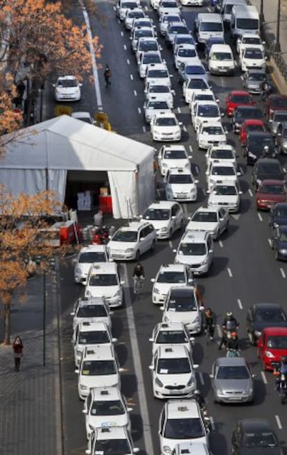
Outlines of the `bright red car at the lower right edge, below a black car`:
{"type": "Polygon", "coordinates": [[[287,327],[266,327],[257,340],[258,357],[263,370],[273,370],[274,363],[287,356],[287,327]]]}

